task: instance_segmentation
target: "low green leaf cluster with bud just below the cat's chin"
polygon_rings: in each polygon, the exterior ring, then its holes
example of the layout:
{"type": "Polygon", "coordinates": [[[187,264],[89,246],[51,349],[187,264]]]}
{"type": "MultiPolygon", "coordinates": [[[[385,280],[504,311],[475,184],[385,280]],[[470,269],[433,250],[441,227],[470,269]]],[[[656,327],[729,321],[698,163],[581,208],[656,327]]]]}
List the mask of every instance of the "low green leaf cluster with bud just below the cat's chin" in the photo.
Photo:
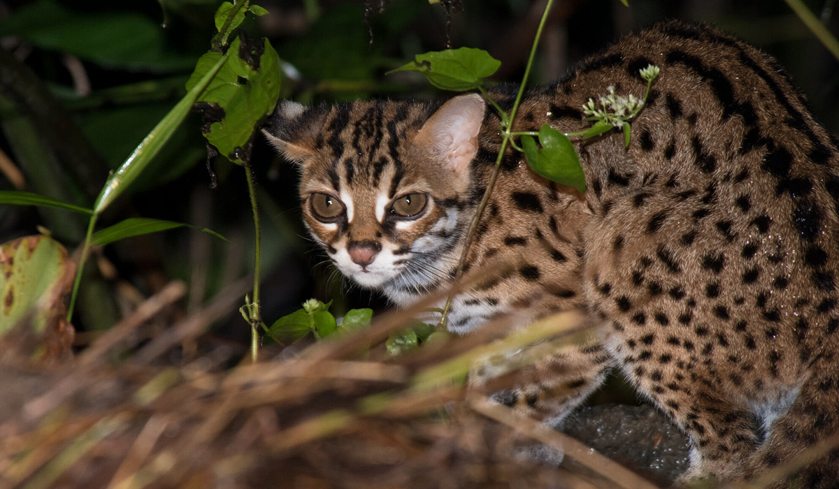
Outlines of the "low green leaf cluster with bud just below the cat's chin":
{"type": "Polygon", "coordinates": [[[341,324],[337,324],[335,316],[329,312],[331,301],[324,304],[317,299],[309,299],[299,310],[289,315],[284,315],[269,328],[265,328],[265,334],[281,345],[300,340],[300,338],[312,333],[315,338],[322,340],[343,332],[360,330],[370,325],[373,318],[371,309],[348,310],[344,315],[341,324]]]}

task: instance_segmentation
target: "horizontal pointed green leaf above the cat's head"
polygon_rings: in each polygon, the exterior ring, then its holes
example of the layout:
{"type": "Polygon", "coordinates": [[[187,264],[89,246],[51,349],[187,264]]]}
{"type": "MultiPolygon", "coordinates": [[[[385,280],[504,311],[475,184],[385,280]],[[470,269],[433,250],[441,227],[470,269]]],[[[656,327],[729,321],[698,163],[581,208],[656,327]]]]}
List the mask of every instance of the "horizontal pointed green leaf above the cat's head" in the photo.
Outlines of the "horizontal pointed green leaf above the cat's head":
{"type": "Polygon", "coordinates": [[[388,71],[388,75],[399,71],[419,71],[437,88],[467,91],[477,89],[483,78],[492,75],[501,66],[501,61],[487,51],[474,48],[431,51],[416,55],[415,59],[396,70],[388,71]]]}

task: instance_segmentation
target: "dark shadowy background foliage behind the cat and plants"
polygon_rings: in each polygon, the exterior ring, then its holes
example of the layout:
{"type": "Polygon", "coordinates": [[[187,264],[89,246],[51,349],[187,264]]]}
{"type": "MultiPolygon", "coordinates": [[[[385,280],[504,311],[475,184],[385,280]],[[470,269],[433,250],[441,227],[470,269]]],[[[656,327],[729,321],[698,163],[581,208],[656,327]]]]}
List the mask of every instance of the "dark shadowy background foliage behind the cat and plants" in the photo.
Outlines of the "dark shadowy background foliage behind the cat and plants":
{"type": "MultiPolygon", "coordinates": [[[[23,187],[90,206],[107,171],[128,157],[184,93],[195,60],[214,34],[216,0],[156,2],[0,2],[0,190],[23,187]],[[2,155],[0,155],[2,156],[2,155]]],[[[836,30],[832,0],[807,2],[836,30]]],[[[304,103],[356,97],[430,98],[414,76],[383,73],[428,50],[467,45],[502,60],[498,81],[518,81],[543,0],[263,0],[270,11],[244,29],[266,35],[284,61],[283,96],[304,103]]],[[[836,133],[839,70],[827,50],[781,0],[556,0],[540,46],[535,83],[559,77],[569,65],[638,26],[668,18],[700,20],[730,30],[776,56],[836,133]]],[[[83,285],[74,323],[81,331],[107,328],[171,278],[190,284],[189,314],[224,284],[248,274],[253,224],[242,169],[221,158],[208,188],[201,119],[190,117],[133,187],[102,218],[155,217],[207,226],[231,242],[195,231],[167,231],[117,242],[99,252],[83,285]]],[[[381,299],[342,284],[300,224],[296,174],[258,139],[253,168],[263,213],[263,318],[270,322],[310,297],[335,299],[337,312],[381,299]],[[349,290],[348,290],[349,289],[349,290]]],[[[0,242],[45,226],[71,251],[85,221],[66,211],[0,207],[0,242]]],[[[218,341],[247,343],[238,315],[220,318],[218,341]]],[[[84,334],[80,341],[86,341],[84,334]]]]}

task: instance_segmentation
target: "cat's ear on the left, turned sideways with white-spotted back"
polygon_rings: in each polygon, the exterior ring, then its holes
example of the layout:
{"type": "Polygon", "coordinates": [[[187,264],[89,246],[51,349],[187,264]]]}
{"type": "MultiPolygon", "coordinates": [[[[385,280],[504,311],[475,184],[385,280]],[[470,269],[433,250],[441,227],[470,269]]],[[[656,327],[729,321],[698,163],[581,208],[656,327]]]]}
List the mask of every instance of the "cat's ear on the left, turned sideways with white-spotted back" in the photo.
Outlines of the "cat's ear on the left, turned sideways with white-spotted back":
{"type": "Polygon", "coordinates": [[[322,113],[295,101],[280,101],[263,134],[285,159],[298,163],[315,154],[315,136],[322,113]]]}

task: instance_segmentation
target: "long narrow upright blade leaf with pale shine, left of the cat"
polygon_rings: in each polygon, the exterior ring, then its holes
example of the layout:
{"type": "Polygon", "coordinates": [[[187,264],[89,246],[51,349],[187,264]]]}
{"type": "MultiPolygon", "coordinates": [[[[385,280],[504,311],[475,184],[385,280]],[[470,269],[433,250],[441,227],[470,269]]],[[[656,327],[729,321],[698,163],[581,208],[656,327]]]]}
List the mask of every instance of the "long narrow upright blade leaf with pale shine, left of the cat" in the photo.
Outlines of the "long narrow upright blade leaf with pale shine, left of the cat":
{"type": "Polygon", "coordinates": [[[201,81],[196,83],[195,86],[186,93],[184,98],[180,99],[175,107],[169,111],[169,114],[167,114],[166,117],[164,117],[163,120],[154,127],[152,132],[143,139],[143,142],[134,149],[131,156],[125,160],[125,163],[123,163],[117,171],[111,174],[111,177],[107,180],[105,187],[102,189],[102,193],[100,193],[99,198],[96,199],[96,204],[93,206],[95,214],[99,214],[104,211],[108,205],[111,205],[113,200],[122,194],[122,192],[131,185],[134,179],[143,172],[143,169],[147,164],[149,164],[149,161],[154,158],[154,155],[159,152],[160,148],[163,148],[164,144],[169,141],[169,138],[171,138],[172,134],[175,133],[175,129],[180,126],[181,122],[184,122],[185,117],[190,113],[192,105],[198,99],[198,96],[201,95],[201,92],[204,91],[207,85],[209,85],[210,81],[216,76],[216,73],[221,69],[221,66],[224,65],[226,60],[227,55],[222,56],[221,59],[207,71],[206,75],[201,77],[201,81]]]}

